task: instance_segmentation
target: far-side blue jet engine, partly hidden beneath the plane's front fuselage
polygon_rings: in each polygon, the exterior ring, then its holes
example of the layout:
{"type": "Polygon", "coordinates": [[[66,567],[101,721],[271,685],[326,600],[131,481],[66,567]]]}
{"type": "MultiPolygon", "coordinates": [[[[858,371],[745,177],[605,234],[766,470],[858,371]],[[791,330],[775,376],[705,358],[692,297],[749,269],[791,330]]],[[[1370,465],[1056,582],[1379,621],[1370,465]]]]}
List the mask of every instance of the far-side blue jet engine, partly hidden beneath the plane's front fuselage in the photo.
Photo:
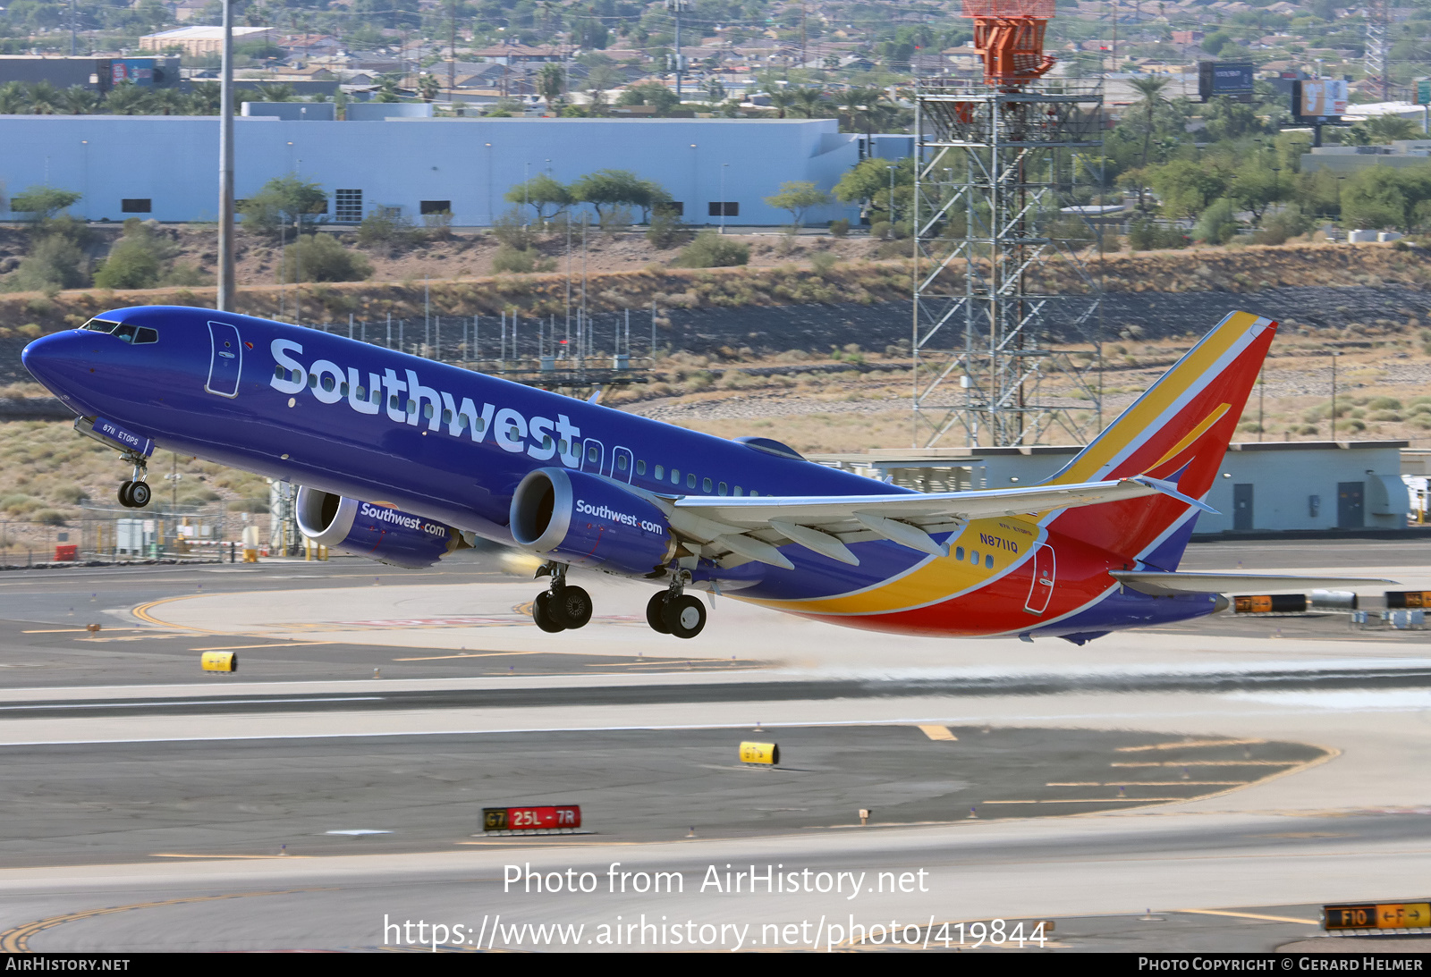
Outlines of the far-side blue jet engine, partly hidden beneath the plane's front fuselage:
{"type": "Polygon", "coordinates": [[[341,554],[422,569],[467,546],[461,531],[391,505],[361,502],[308,486],[298,489],[298,529],[341,554]]]}

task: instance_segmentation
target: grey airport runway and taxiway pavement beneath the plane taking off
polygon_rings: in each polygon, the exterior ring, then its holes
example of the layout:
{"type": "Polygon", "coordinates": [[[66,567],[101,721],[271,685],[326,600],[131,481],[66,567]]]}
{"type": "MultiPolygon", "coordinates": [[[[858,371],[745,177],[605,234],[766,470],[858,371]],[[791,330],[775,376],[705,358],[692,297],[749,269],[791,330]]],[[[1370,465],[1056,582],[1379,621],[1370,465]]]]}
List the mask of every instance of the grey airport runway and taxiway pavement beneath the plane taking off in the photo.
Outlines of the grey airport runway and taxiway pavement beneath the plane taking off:
{"type": "MultiPolygon", "coordinates": [[[[1185,568],[1431,588],[1424,551],[1185,568]]],[[[491,555],[384,569],[0,574],[0,950],[1005,951],[1040,920],[1049,951],[1271,950],[1345,946],[1321,903],[1425,897],[1424,631],[1219,617],[1075,648],[717,598],[683,642],[645,628],[650,588],[594,578],[592,624],[544,635],[491,555]],[[482,831],[554,802],[581,834],[482,831]]]]}

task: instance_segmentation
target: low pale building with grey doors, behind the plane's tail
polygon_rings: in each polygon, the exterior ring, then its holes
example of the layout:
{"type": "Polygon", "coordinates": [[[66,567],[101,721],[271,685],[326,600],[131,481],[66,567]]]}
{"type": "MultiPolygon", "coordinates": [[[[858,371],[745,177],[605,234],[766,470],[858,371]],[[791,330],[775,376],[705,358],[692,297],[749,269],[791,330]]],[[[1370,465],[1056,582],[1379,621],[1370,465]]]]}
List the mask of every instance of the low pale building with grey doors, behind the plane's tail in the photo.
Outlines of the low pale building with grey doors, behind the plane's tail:
{"type": "MultiPolygon", "coordinates": [[[[1268,441],[1229,446],[1199,534],[1400,529],[1411,496],[1402,481],[1405,441],[1268,441]]],[[[890,478],[922,492],[1036,485],[1069,463],[1076,445],[883,449],[811,461],[890,478]]]]}

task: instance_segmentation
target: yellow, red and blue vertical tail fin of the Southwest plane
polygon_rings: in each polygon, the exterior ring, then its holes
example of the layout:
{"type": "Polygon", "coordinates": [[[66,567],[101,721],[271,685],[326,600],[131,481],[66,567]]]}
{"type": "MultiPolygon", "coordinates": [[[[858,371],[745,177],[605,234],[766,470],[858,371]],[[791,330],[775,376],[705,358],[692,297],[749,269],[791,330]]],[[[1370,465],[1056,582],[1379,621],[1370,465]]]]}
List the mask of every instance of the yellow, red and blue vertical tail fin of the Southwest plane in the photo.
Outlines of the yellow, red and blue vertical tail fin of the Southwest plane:
{"type": "MultiPolygon", "coordinates": [[[[1175,482],[1183,495],[1205,496],[1275,335],[1271,319],[1228,315],[1049,483],[1152,475],[1175,482]]],[[[1193,514],[1176,499],[1149,496],[1055,519],[1066,536],[1175,569],[1193,514]]]]}

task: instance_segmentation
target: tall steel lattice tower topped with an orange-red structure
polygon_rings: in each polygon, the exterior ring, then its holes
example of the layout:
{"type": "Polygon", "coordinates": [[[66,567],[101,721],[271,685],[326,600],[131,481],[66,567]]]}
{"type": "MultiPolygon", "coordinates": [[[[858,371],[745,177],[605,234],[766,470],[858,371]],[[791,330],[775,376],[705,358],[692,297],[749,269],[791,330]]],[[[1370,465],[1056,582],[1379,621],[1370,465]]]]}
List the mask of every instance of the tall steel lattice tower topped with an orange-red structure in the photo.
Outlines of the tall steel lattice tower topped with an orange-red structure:
{"type": "Polygon", "coordinates": [[[964,16],[983,80],[916,89],[914,445],[957,431],[1025,445],[1050,428],[1082,442],[1102,421],[1085,260],[1099,232],[1079,206],[1102,175],[1102,84],[1043,77],[1053,0],[964,0],[964,16]]]}

